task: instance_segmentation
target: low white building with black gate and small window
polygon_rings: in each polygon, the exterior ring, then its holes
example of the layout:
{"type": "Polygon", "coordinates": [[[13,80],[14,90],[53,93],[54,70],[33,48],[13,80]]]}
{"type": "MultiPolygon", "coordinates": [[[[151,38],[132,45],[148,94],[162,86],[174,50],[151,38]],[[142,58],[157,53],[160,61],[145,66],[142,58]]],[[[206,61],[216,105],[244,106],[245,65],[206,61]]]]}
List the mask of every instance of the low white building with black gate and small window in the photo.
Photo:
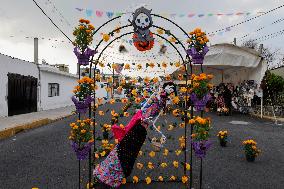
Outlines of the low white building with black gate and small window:
{"type": "Polygon", "coordinates": [[[73,105],[78,76],[0,54],[0,117],[73,105]]]}

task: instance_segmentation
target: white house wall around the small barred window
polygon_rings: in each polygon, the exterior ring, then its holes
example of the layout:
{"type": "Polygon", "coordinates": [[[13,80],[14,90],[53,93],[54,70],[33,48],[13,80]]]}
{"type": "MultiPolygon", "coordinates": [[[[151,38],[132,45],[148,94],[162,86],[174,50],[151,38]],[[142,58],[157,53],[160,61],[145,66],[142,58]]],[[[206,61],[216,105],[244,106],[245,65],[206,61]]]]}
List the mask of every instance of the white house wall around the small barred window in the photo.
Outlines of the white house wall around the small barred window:
{"type": "Polygon", "coordinates": [[[41,110],[49,110],[73,105],[71,97],[78,77],[62,73],[54,68],[41,66],[41,110]],[[59,84],[59,96],[48,97],[48,83],[59,84]]]}

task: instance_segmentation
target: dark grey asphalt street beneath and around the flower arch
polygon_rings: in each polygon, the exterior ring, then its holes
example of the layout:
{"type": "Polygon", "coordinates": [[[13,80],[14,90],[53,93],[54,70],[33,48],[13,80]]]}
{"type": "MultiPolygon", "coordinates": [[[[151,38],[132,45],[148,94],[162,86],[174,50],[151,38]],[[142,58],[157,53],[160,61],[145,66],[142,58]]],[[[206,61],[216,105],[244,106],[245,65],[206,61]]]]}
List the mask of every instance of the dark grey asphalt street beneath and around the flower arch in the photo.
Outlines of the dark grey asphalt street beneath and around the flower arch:
{"type": "MultiPolygon", "coordinates": [[[[102,109],[106,109],[105,107],[102,109]]],[[[209,150],[204,160],[203,188],[216,189],[280,189],[284,185],[284,126],[276,126],[272,122],[267,122],[244,115],[234,115],[231,117],[219,117],[210,114],[213,121],[212,141],[213,147],[209,150]],[[233,121],[233,122],[232,122],[233,121]],[[218,145],[216,134],[219,130],[228,130],[228,147],[221,148],[218,145]],[[242,141],[253,138],[258,142],[258,147],[262,154],[254,163],[245,160],[242,141]]],[[[62,189],[78,188],[78,163],[71,145],[67,140],[69,123],[75,117],[69,117],[49,125],[25,131],[14,137],[0,141],[0,181],[1,189],[31,189],[32,187],[62,189]]],[[[171,124],[176,120],[173,117],[162,117],[159,123],[167,122],[171,124]]],[[[110,121],[108,116],[101,117],[99,123],[110,121]]],[[[121,119],[122,123],[126,123],[121,119]]],[[[178,138],[183,134],[183,130],[175,128],[167,131],[162,127],[162,131],[174,138],[168,139],[166,148],[176,150],[178,138]]],[[[157,136],[149,130],[149,136],[157,136]]],[[[149,141],[142,150],[152,150],[149,141]]],[[[145,175],[157,180],[159,175],[165,177],[169,175],[182,176],[183,170],[170,167],[173,160],[183,161],[183,155],[176,156],[174,152],[165,158],[161,153],[157,153],[155,158],[146,156],[138,157],[137,162],[147,163],[148,161],[167,161],[167,169],[135,170],[132,175],[137,175],[141,179],[145,175]]],[[[198,188],[197,168],[199,160],[194,158],[194,188],[198,188]]],[[[83,163],[86,169],[86,162],[83,163]]],[[[86,178],[86,175],[83,174],[86,178]]],[[[130,178],[131,179],[131,178],[130,178]]],[[[83,182],[86,183],[85,179],[83,182]]],[[[82,187],[83,188],[83,187],[82,187]]],[[[145,182],[133,185],[127,184],[122,188],[184,188],[179,183],[153,183],[146,185],[145,182]]]]}

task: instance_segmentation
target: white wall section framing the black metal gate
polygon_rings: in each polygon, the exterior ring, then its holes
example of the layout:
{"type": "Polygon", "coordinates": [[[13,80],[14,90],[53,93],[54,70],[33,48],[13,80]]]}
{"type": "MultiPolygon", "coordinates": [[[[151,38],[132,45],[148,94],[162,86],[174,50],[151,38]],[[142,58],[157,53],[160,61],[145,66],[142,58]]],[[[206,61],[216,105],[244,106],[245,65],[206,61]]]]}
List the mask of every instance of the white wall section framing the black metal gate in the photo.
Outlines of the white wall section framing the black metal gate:
{"type": "Polygon", "coordinates": [[[38,78],[36,64],[0,54],[0,117],[8,116],[8,73],[38,78]]]}

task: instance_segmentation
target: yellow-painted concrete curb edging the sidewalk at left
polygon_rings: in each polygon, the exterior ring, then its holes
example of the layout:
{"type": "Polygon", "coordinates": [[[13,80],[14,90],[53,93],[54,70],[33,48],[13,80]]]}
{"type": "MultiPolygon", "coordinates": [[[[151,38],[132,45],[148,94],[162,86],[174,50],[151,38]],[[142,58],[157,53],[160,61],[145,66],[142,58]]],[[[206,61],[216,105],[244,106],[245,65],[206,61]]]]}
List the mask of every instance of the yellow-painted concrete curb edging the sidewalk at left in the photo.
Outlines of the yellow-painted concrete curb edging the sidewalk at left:
{"type": "Polygon", "coordinates": [[[30,123],[25,123],[23,125],[17,125],[13,128],[4,129],[4,130],[0,131],[0,140],[14,136],[14,135],[16,135],[16,134],[18,134],[22,131],[25,131],[25,130],[38,128],[38,127],[47,125],[49,123],[53,123],[53,122],[62,120],[64,118],[71,117],[72,115],[73,114],[68,114],[66,116],[61,116],[61,117],[56,118],[56,119],[49,119],[49,118],[39,119],[39,120],[36,120],[36,121],[32,121],[30,123]]]}

